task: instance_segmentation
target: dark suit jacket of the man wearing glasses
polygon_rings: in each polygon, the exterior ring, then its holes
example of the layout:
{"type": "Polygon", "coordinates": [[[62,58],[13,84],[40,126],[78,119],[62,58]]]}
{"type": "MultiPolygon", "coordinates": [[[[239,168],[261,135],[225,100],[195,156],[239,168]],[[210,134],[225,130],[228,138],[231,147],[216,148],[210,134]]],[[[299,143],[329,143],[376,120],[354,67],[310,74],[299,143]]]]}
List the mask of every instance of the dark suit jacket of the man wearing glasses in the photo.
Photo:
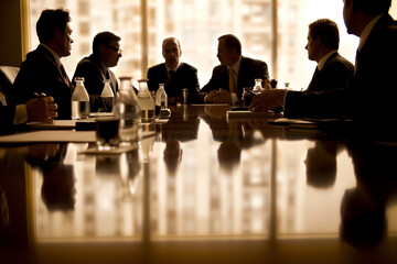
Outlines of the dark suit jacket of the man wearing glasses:
{"type": "MultiPolygon", "coordinates": [[[[111,112],[112,101],[106,98],[100,98],[106,78],[106,68],[100,64],[98,58],[92,54],[84,57],[76,67],[73,76],[73,85],[75,85],[75,77],[84,77],[84,86],[89,95],[90,111],[111,112]]],[[[115,74],[109,69],[110,82],[114,89],[114,95],[118,91],[118,84],[115,74]]]]}

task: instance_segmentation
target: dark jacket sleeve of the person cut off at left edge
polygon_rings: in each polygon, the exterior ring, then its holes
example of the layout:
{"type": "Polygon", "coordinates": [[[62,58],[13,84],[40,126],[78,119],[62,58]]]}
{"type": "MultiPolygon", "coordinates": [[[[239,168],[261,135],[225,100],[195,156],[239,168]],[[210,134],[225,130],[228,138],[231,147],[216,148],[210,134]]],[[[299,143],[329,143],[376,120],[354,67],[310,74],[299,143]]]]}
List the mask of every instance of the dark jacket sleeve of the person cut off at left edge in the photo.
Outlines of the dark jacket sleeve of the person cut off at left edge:
{"type": "Polygon", "coordinates": [[[15,114],[15,105],[12,100],[10,87],[11,82],[6,77],[3,72],[0,70],[0,94],[1,97],[4,97],[3,100],[6,100],[6,103],[0,102],[0,134],[12,132],[12,123],[15,114]]]}

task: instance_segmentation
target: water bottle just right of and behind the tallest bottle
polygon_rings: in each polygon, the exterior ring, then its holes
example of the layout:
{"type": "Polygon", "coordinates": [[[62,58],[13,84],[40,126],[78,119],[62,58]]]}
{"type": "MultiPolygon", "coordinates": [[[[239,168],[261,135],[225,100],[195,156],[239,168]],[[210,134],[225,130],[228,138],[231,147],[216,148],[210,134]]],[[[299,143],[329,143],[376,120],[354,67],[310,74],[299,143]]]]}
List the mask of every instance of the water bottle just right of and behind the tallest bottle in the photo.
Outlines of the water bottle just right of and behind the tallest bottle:
{"type": "Polygon", "coordinates": [[[141,107],[141,120],[142,122],[151,122],[155,118],[154,100],[148,89],[148,80],[138,80],[139,91],[138,100],[141,107]]]}

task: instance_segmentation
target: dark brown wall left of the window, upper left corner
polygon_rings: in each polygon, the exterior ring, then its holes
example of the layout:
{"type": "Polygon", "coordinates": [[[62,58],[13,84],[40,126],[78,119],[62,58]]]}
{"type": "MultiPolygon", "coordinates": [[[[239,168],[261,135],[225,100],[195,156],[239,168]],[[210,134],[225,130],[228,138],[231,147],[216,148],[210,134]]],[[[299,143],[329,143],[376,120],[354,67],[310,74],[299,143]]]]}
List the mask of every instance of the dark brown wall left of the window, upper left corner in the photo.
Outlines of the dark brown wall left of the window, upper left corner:
{"type": "Polygon", "coordinates": [[[22,62],[20,1],[0,3],[0,65],[19,67],[22,62]]]}

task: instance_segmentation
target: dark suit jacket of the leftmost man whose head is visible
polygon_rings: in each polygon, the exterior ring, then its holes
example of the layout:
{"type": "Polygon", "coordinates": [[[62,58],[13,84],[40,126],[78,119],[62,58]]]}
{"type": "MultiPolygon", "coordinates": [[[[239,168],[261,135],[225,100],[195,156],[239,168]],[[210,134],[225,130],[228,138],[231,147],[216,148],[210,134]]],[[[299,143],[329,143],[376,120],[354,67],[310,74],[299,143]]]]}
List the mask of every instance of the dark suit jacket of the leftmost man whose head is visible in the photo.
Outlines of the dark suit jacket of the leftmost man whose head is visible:
{"type": "Polygon", "coordinates": [[[57,119],[71,119],[72,91],[72,82],[65,84],[54,56],[42,45],[28,53],[12,87],[18,105],[34,98],[34,92],[52,96],[58,106],[57,119]]]}

